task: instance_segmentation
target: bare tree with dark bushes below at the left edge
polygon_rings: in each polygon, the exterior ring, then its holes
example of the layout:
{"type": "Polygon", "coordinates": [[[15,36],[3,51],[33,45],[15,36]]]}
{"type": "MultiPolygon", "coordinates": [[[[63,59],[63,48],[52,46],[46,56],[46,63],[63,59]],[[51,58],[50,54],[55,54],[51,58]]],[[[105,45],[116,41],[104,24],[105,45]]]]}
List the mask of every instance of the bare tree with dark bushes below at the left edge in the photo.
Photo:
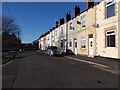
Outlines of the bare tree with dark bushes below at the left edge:
{"type": "Polygon", "coordinates": [[[2,17],[2,49],[18,50],[20,47],[20,28],[15,24],[15,19],[2,17]]]}

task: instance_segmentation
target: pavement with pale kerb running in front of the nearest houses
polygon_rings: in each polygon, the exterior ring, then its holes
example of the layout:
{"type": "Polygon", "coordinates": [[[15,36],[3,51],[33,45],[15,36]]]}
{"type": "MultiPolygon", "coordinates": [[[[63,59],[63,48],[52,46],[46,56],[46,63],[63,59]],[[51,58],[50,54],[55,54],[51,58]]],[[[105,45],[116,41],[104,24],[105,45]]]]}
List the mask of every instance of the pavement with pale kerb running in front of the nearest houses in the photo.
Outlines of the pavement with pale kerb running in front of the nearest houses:
{"type": "Polygon", "coordinates": [[[112,72],[115,74],[120,75],[120,59],[112,59],[112,58],[105,58],[105,57],[87,57],[82,55],[67,55],[67,58],[78,60],[85,63],[90,63],[98,66],[102,66],[105,71],[112,72]]]}

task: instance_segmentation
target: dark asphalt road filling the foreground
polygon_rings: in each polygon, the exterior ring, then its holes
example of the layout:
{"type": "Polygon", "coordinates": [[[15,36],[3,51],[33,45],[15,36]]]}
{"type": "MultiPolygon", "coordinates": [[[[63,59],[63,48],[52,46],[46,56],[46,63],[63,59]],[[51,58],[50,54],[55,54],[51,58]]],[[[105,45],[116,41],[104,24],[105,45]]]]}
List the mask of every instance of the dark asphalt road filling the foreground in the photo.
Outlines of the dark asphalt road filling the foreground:
{"type": "Polygon", "coordinates": [[[2,67],[3,88],[118,88],[118,75],[38,51],[18,54],[2,67]]]}

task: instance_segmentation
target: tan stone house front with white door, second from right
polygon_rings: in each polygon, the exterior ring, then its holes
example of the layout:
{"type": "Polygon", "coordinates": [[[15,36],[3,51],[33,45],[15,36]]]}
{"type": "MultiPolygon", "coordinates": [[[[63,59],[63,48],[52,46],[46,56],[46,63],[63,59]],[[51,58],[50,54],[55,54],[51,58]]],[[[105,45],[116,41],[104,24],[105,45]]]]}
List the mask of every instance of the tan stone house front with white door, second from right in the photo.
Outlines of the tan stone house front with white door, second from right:
{"type": "MultiPolygon", "coordinates": [[[[87,3],[89,5],[90,2],[87,3]]],[[[80,55],[93,57],[96,55],[96,28],[93,26],[96,22],[96,6],[92,8],[91,6],[87,6],[87,10],[83,11],[78,18],[80,24],[78,24],[77,50],[80,55]]]]}

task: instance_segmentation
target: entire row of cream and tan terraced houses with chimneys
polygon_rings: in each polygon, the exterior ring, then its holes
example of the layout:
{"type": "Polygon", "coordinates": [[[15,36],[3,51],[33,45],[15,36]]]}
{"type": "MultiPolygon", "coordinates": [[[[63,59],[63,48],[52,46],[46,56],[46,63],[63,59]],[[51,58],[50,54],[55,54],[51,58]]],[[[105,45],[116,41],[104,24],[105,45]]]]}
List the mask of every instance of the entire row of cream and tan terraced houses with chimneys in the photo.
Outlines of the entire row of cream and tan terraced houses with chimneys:
{"type": "MultiPolygon", "coordinates": [[[[93,0],[92,0],[93,1],[93,0]]],[[[120,1],[102,0],[98,3],[86,2],[86,10],[80,12],[74,7],[74,17],[70,13],[56,23],[56,27],[39,39],[41,50],[46,46],[46,35],[54,33],[51,44],[72,50],[75,55],[89,57],[102,56],[120,58],[120,1]]]]}

